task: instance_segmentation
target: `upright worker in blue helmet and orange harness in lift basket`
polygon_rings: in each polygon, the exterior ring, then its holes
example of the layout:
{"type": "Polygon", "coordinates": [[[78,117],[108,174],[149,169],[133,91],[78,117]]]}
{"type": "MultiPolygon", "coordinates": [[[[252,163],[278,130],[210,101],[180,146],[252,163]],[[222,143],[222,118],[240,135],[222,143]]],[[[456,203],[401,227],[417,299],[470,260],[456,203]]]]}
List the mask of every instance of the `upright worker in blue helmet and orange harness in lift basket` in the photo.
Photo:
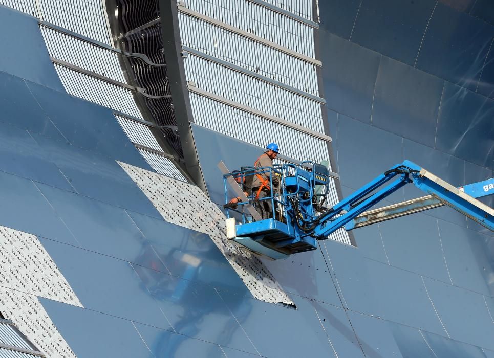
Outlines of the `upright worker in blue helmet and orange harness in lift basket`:
{"type": "MultiPolygon", "coordinates": [[[[257,158],[254,163],[254,168],[273,167],[273,159],[276,158],[278,152],[280,152],[280,147],[276,143],[269,143],[266,146],[266,151],[257,158]]],[[[252,192],[254,194],[254,199],[261,200],[265,197],[271,196],[271,181],[273,183],[273,193],[275,188],[280,184],[280,177],[278,175],[273,175],[271,178],[270,172],[264,170],[256,170],[254,177],[252,179],[252,192]]],[[[273,202],[272,200],[262,200],[257,203],[257,212],[263,219],[269,219],[273,217],[273,202]]]]}

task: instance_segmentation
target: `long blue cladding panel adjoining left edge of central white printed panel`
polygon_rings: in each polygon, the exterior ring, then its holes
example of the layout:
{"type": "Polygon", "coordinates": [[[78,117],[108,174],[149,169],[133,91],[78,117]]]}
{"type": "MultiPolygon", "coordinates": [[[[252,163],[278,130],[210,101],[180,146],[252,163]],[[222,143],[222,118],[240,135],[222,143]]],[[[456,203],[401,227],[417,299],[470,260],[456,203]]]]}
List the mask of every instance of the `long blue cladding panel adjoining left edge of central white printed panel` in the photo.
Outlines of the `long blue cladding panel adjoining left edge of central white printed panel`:
{"type": "MultiPolygon", "coordinates": [[[[38,135],[33,137],[78,194],[162,218],[141,189],[115,160],[67,142],[52,141],[38,135]],[[122,195],[123,193],[125,195],[122,195]]],[[[143,159],[141,167],[150,169],[143,159]]]]}

